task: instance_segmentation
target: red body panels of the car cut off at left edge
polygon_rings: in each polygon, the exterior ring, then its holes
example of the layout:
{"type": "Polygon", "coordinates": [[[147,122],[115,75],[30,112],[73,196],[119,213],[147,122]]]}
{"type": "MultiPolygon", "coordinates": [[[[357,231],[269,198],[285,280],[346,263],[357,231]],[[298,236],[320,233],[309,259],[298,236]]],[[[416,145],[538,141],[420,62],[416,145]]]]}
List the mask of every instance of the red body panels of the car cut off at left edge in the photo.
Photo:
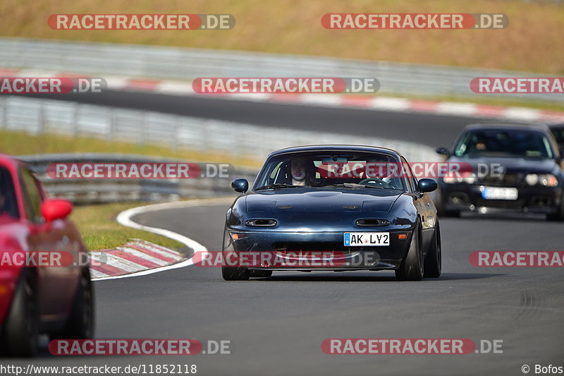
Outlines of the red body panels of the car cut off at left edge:
{"type": "MultiPolygon", "coordinates": [[[[11,176],[13,183],[12,209],[17,207],[18,216],[2,212],[0,207],[0,256],[13,252],[64,252],[71,253],[74,260],[87,251],[76,226],[68,218],[52,222],[38,220],[30,215],[30,194],[27,193],[23,174],[27,166],[12,157],[0,154],[0,172],[11,176]],[[3,171],[2,171],[3,170],[3,171]],[[14,205],[15,204],[15,205],[14,205]]],[[[27,184],[31,175],[27,175],[27,184]]],[[[33,178],[41,203],[47,200],[39,181],[33,178]]],[[[4,187],[0,187],[4,189],[4,187]]],[[[1,193],[1,192],[0,192],[1,193]]],[[[37,212],[35,207],[34,213],[37,212]]],[[[40,212],[40,210],[39,210],[40,212]]],[[[41,214],[39,213],[39,216],[41,214]]],[[[0,258],[1,260],[1,258],[0,258]]],[[[66,321],[78,288],[80,274],[85,265],[35,267],[39,295],[40,329],[42,332],[58,329],[66,321]]],[[[23,267],[0,262],[0,327],[4,325],[10,310],[13,294],[18,285],[23,267]]],[[[29,267],[29,266],[27,266],[29,267]]]]}

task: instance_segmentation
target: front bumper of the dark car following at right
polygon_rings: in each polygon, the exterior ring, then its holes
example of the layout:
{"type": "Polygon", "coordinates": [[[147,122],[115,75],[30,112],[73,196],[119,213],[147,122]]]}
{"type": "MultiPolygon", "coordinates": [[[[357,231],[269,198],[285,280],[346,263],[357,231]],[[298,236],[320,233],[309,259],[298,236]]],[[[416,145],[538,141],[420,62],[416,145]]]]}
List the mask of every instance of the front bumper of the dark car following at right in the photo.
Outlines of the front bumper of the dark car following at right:
{"type": "Polygon", "coordinates": [[[562,188],[518,186],[517,200],[488,200],[482,196],[483,185],[441,184],[441,200],[445,210],[479,210],[531,212],[551,214],[558,210],[563,200],[562,188]]]}

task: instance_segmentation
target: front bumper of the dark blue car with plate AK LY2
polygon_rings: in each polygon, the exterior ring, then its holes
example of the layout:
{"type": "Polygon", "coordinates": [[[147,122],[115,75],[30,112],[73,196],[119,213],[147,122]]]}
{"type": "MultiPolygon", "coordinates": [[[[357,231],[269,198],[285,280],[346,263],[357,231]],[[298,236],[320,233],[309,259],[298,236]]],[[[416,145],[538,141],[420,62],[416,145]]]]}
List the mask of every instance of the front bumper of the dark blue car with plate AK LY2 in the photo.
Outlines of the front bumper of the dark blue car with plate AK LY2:
{"type": "MultiPolygon", "coordinates": [[[[339,232],[237,231],[226,233],[223,252],[245,260],[248,269],[382,270],[398,269],[409,250],[412,231],[388,232],[390,245],[345,247],[339,232]],[[400,234],[404,238],[400,238],[400,234]],[[234,236],[235,235],[235,236],[234,236]]],[[[363,232],[356,230],[355,232],[363,232]]]]}

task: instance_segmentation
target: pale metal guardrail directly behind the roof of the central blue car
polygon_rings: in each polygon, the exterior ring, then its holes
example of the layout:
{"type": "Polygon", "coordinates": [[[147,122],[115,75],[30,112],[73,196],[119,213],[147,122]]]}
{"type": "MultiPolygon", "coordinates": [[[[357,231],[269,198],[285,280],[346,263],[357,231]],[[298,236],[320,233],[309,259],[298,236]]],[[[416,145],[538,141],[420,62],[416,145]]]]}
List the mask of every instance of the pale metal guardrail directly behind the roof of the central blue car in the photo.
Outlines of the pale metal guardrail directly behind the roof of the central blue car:
{"type": "Polygon", "coordinates": [[[0,129],[164,145],[176,150],[218,152],[232,157],[243,155],[259,161],[283,147],[312,144],[378,145],[398,150],[412,161],[432,161],[436,155],[431,147],[413,142],[265,128],[151,111],[13,96],[0,96],[0,129]]]}

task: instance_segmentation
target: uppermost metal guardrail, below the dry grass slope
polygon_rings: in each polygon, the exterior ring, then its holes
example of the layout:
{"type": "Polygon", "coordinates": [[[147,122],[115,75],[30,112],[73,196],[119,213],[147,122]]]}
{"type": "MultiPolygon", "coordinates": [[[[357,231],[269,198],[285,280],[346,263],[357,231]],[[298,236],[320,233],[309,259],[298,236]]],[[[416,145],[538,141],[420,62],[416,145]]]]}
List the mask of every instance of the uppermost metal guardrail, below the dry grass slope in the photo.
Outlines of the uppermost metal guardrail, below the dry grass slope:
{"type": "MultiPolygon", "coordinates": [[[[475,77],[541,77],[539,73],[386,61],[263,54],[133,44],[0,38],[0,65],[87,75],[193,80],[197,77],[366,77],[396,95],[472,97],[475,77]]],[[[479,94],[484,97],[484,94],[479,94]]],[[[498,97],[499,95],[494,95],[498,97]]],[[[511,94],[512,98],[563,101],[562,95],[511,94]]]]}

